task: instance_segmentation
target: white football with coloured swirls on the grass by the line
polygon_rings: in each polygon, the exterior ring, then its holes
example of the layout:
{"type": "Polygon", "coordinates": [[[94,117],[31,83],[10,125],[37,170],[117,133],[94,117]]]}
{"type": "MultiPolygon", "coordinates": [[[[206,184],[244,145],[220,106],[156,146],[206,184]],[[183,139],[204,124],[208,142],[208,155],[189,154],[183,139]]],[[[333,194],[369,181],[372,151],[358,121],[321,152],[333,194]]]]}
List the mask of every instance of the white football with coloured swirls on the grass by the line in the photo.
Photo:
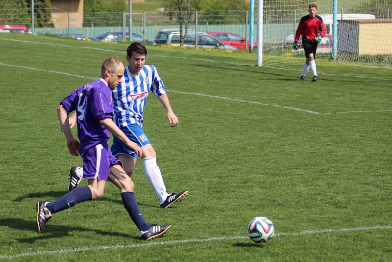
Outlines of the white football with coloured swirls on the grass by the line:
{"type": "Polygon", "coordinates": [[[273,236],[274,227],[270,218],[256,216],[248,224],[248,236],[256,243],[265,243],[273,236]]]}

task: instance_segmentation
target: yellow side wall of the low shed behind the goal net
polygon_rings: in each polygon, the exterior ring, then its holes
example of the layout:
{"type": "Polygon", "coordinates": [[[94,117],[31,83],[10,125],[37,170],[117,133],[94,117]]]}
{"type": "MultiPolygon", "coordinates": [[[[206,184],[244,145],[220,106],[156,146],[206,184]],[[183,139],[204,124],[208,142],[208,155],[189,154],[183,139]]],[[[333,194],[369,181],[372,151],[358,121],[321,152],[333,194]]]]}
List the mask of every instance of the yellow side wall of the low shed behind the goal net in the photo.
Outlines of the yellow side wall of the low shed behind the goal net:
{"type": "Polygon", "coordinates": [[[392,54],[392,23],[360,24],[359,55],[392,54]]]}

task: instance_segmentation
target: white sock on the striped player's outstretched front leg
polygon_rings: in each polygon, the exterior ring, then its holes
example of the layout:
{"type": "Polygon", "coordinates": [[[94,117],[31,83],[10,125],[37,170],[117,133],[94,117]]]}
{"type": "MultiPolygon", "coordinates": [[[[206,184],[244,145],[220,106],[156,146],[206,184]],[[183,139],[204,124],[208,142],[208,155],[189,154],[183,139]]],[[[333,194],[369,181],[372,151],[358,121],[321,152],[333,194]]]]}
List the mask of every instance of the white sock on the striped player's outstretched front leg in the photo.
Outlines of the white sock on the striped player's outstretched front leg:
{"type": "Polygon", "coordinates": [[[151,184],[156,196],[159,199],[159,204],[162,204],[165,202],[169,194],[166,192],[166,186],[163,182],[161,170],[156,164],[156,157],[144,158],[143,168],[148,182],[151,184]]]}

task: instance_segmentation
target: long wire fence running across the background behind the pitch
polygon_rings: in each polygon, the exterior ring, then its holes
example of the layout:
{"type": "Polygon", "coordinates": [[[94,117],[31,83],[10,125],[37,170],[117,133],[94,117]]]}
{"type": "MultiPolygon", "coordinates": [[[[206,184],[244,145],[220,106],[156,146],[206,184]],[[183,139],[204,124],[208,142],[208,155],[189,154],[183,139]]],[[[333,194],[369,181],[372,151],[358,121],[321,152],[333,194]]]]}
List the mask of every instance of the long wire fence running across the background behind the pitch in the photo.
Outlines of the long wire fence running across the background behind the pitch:
{"type": "MultiPolygon", "coordinates": [[[[284,55],[290,52],[294,32],[302,15],[307,13],[307,8],[273,9],[264,10],[263,45],[264,53],[272,55],[284,55]]],[[[346,10],[341,8],[339,15],[342,16],[346,10]]],[[[389,8],[348,10],[355,13],[372,13],[375,19],[389,19],[391,17],[389,8]]],[[[326,12],[328,13],[328,11],[326,12]]],[[[257,17],[257,14],[254,14],[257,17]]],[[[77,13],[67,12],[56,6],[51,10],[22,3],[7,3],[0,0],[0,25],[20,24],[29,27],[35,34],[72,36],[73,34],[97,37],[107,32],[122,33],[129,37],[129,13],[77,13]]],[[[132,32],[139,35],[138,39],[144,39],[151,43],[157,33],[163,29],[193,29],[201,32],[224,31],[242,35],[247,41],[249,37],[249,14],[247,10],[232,11],[187,11],[187,12],[144,12],[132,13],[132,32]]],[[[254,21],[256,23],[256,19],[254,21]]],[[[327,27],[330,25],[326,25],[327,27]]],[[[327,28],[331,30],[331,28],[327,28]]],[[[376,30],[376,28],[375,28],[376,30]]],[[[254,32],[256,34],[256,32],[254,32]]],[[[133,35],[135,36],[135,35],[133,35]]],[[[326,39],[328,40],[328,39],[326,39]]],[[[139,41],[139,40],[138,40],[139,41]]],[[[321,51],[326,51],[325,57],[330,57],[332,42],[327,41],[321,51]]]]}

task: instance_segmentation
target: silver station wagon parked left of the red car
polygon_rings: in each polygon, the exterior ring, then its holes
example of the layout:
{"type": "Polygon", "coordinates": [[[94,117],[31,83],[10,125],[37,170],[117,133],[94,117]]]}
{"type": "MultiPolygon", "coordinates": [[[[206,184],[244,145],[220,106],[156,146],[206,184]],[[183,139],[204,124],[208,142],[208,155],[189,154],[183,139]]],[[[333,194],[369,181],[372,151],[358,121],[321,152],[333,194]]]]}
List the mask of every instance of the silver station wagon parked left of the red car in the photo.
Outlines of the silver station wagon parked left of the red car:
{"type": "MultiPolygon", "coordinates": [[[[185,33],[185,31],[183,32],[185,33]]],[[[164,29],[155,37],[154,45],[180,45],[180,30],[164,29]]],[[[200,48],[218,48],[221,50],[237,51],[238,49],[222,43],[219,39],[205,32],[197,32],[197,46],[200,48]]],[[[184,47],[196,47],[196,31],[188,30],[184,39],[184,47]]]]}

